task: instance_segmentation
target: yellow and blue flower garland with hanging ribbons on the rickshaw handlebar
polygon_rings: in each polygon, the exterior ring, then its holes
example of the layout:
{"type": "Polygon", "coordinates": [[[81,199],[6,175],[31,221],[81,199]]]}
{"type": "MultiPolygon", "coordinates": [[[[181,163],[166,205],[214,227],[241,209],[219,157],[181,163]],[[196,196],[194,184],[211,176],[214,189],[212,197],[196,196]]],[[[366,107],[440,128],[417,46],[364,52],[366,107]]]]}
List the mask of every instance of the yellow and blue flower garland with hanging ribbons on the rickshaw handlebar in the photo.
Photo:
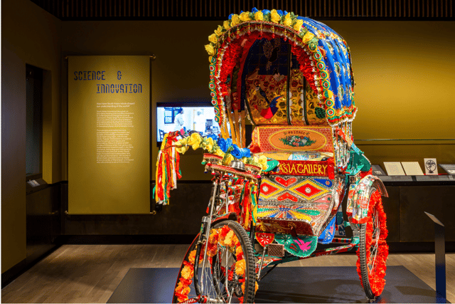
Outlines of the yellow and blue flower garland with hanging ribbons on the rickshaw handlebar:
{"type": "Polygon", "coordinates": [[[232,140],[228,138],[218,138],[216,135],[202,137],[198,132],[191,134],[182,131],[169,132],[164,135],[156,162],[156,186],[154,189],[155,199],[158,204],[168,204],[171,189],[176,189],[177,178],[181,178],[180,154],[185,154],[190,147],[193,150],[203,148],[210,154],[223,157],[223,164],[228,166],[234,159],[240,159],[245,164],[254,164],[267,169],[267,157],[252,157],[248,148],[240,148],[232,145],[232,140]],[[181,136],[181,140],[177,137],[181,136]]]}

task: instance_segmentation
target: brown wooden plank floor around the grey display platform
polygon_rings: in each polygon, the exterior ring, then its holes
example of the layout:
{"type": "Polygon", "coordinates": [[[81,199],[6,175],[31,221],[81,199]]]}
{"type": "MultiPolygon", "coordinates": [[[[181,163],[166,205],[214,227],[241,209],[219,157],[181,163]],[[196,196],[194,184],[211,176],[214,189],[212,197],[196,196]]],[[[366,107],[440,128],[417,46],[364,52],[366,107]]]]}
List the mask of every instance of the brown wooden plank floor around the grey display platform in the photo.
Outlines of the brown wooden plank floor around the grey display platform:
{"type": "MultiPolygon", "coordinates": [[[[176,268],[186,245],[65,245],[1,290],[2,303],[106,303],[129,268],[176,268]]],[[[355,255],[322,256],[285,266],[355,266],[355,255]]],[[[391,254],[434,288],[434,254],[391,254]]],[[[455,303],[455,253],[446,254],[447,300],[455,303]]],[[[360,284],[360,282],[359,282],[360,284]]]]}

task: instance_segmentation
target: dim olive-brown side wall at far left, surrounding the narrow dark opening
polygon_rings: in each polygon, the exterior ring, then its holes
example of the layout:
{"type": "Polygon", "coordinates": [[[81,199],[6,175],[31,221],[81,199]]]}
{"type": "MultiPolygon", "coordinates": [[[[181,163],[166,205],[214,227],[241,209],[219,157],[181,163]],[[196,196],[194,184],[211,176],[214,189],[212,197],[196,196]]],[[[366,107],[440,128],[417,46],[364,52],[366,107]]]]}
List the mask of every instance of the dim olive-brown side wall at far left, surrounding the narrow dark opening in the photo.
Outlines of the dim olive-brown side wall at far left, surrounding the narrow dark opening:
{"type": "Polygon", "coordinates": [[[31,1],[1,3],[2,273],[26,258],[26,63],[46,70],[43,179],[61,180],[60,24],[31,1]]]}

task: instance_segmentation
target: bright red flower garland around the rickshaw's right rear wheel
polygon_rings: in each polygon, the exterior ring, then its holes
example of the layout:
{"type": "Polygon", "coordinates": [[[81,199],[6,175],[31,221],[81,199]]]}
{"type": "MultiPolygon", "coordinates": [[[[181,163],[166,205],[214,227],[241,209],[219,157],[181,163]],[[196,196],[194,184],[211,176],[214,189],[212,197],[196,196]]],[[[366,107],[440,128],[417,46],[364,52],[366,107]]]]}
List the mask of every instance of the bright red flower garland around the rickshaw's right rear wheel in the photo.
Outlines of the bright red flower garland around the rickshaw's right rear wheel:
{"type": "MultiPolygon", "coordinates": [[[[373,221],[371,218],[371,214],[373,214],[373,209],[375,206],[378,209],[378,216],[379,216],[379,223],[380,223],[380,239],[378,241],[378,253],[376,254],[375,260],[375,267],[373,271],[368,270],[369,272],[369,281],[370,281],[370,288],[373,291],[373,294],[378,296],[382,293],[385,286],[385,270],[387,266],[385,265],[385,261],[387,260],[387,256],[389,255],[389,246],[385,243],[385,239],[387,238],[387,226],[386,220],[387,217],[385,215],[384,209],[381,204],[381,195],[379,192],[373,192],[371,194],[370,205],[368,206],[368,221],[367,221],[367,229],[366,229],[366,248],[367,248],[367,265],[371,263],[371,256],[370,246],[373,243],[373,221]]],[[[357,256],[359,257],[357,260],[357,273],[360,278],[360,283],[362,283],[362,274],[360,269],[360,250],[357,251],[357,256]]]]}

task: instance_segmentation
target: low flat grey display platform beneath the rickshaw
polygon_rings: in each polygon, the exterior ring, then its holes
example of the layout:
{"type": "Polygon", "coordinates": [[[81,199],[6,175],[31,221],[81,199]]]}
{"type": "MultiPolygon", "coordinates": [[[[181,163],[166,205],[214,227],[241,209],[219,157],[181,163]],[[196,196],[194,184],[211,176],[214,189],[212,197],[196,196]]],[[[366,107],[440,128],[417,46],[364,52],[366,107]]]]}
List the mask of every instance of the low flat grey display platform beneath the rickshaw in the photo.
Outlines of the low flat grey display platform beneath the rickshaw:
{"type": "MultiPolygon", "coordinates": [[[[178,268],[131,268],[107,303],[170,303],[178,268]]],[[[435,291],[404,266],[387,267],[376,303],[435,303],[435,291]]],[[[277,267],[256,303],[368,303],[355,267],[277,267]]]]}

